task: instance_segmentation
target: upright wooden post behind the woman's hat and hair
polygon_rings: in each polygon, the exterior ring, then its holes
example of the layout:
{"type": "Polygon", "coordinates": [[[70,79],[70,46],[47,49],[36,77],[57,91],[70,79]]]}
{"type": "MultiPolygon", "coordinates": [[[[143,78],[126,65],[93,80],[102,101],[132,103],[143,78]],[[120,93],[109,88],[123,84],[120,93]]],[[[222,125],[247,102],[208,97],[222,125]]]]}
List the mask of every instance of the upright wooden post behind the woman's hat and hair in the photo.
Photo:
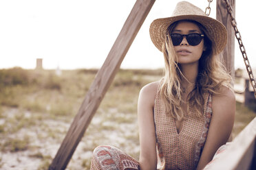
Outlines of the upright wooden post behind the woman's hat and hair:
{"type": "MultiPolygon", "coordinates": [[[[231,7],[233,8],[233,16],[235,17],[235,0],[229,0],[231,7]]],[[[231,17],[226,11],[226,3],[224,0],[216,1],[216,19],[225,25],[228,33],[228,41],[226,48],[222,52],[224,60],[224,66],[228,73],[231,74],[233,79],[235,78],[235,32],[231,25],[231,17]]]]}

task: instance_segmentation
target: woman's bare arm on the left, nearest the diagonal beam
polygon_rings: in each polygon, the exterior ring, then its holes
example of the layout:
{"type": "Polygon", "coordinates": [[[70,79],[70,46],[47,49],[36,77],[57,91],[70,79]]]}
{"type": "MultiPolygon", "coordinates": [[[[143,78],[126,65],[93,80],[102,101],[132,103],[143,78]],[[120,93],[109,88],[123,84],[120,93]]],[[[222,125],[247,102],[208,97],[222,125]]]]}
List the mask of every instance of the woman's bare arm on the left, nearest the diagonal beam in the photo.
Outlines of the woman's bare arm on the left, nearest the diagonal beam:
{"type": "Polygon", "coordinates": [[[140,132],[140,169],[156,169],[156,132],[153,106],[158,82],[147,84],[140,90],[138,99],[138,126],[140,132]]]}

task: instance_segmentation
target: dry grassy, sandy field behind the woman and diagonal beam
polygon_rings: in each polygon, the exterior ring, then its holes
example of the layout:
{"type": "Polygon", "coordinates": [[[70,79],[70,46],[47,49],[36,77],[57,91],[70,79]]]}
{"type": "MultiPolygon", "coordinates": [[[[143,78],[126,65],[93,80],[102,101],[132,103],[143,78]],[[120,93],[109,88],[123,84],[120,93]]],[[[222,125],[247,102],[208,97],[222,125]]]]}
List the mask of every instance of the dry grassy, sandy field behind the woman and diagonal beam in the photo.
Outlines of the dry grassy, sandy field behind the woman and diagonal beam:
{"type": "MultiPolygon", "coordinates": [[[[47,169],[92,84],[96,70],[0,70],[0,169],[47,169]]],[[[120,70],[67,169],[89,169],[93,149],[114,145],[138,160],[140,88],[161,70],[120,70]]],[[[255,117],[237,103],[235,137],[255,117]]]]}

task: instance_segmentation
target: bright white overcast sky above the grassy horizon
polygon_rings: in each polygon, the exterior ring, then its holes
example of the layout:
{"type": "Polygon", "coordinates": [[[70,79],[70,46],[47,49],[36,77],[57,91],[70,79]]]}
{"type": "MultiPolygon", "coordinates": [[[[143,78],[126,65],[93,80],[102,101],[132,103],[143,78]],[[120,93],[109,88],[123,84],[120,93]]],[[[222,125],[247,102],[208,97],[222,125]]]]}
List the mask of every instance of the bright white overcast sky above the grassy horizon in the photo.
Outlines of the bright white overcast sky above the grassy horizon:
{"type": "MultiPolygon", "coordinates": [[[[189,1],[189,0],[188,0],[189,1]]],[[[100,68],[114,45],[136,0],[0,0],[0,69],[34,69],[43,58],[44,69],[100,68]]],[[[190,0],[202,10],[207,0],[190,0]]],[[[154,19],[171,16],[177,0],[156,0],[121,64],[122,69],[164,67],[162,53],[149,37],[154,19]]],[[[210,16],[216,16],[216,0],[210,16]]],[[[237,28],[248,59],[256,69],[255,1],[236,1],[237,28]],[[254,55],[254,56],[253,56],[254,55]]],[[[245,69],[235,40],[235,69],[245,69]]]]}

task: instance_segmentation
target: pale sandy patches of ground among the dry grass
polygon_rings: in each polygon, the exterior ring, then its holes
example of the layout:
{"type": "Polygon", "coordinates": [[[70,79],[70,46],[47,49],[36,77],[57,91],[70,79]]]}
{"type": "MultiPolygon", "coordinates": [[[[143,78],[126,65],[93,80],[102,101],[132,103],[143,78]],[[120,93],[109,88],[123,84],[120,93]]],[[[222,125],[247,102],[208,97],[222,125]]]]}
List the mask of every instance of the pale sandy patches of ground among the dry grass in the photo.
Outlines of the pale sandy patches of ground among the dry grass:
{"type": "MultiPolygon", "coordinates": [[[[18,109],[7,109],[4,113],[7,117],[14,117],[15,114],[19,114],[18,109]]],[[[31,112],[26,112],[25,117],[30,117],[31,112]]],[[[129,115],[129,114],[128,114],[129,115]]],[[[129,119],[129,118],[128,118],[129,119]]],[[[6,119],[0,119],[0,125],[5,123],[6,119]]],[[[92,128],[102,123],[100,117],[94,117],[92,120],[92,128]]],[[[111,121],[105,121],[105,127],[113,124],[111,121]]],[[[53,121],[50,119],[41,121],[41,125],[32,126],[29,128],[22,128],[15,134],[5,134],[1,136],[4,143],[8,138],[23,138],[24,136],[29,137],[29,147],[24,151],[2,151],[0,154],[1,158],[1,169],[47,169],[47,164],[52,161],[58,148],[61,145],[65,134],[70,127],[70,123],[63,121],[53,121]],[[49,136],[49,132],[46,128],[59,132],[58,137],[52,138],[49,136]]],[[[93,131],[93,130],[91,130],[93,131]]],[[[138,153],[139,147],[132,141],[127,142],[127,136],[131,136],[137,130],[136,122],[134,123],[122,123],[118,125],[118,130],[101,130],[100,132],[92,132],[92,134],[85,134],[82,141],[79,143],[76,151],[70,160],[67,169],[88,169],[89,162],[92,156],[93,148],[96,145],[114,145],[125,151],[138,153]],[[83,165],[83,161],[86,165],[83,165]]]]}

